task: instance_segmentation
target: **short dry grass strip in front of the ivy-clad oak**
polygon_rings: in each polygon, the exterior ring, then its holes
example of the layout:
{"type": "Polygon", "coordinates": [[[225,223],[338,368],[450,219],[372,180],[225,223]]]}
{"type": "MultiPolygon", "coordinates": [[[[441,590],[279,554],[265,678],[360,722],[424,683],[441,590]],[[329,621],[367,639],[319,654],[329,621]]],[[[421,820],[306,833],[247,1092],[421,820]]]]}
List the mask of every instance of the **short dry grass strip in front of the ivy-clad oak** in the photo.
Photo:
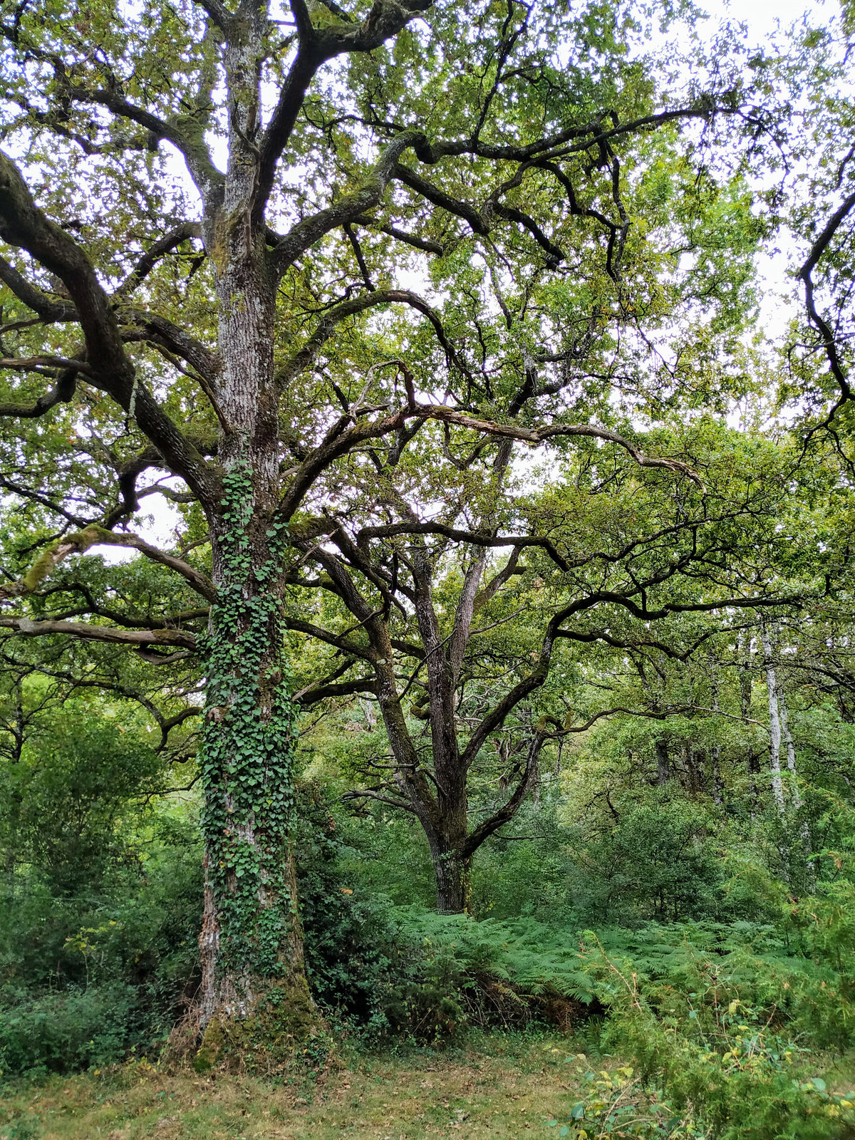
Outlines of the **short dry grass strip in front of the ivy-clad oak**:
{"type": "MultiPolygon", "coordinates": [[[[578,1048],[578,1047],[577,1047],[578,1048]]],[[[571,1051],[571,1050],[570,1050],[571,1051]]],[[[565,1041],[492,1036],[478,1050],[360,1058],[318,1084],[127,1066],[0,1100],[3,1140],[415,1140],[544,1137],[581,1091],[565,1041]]]]}

